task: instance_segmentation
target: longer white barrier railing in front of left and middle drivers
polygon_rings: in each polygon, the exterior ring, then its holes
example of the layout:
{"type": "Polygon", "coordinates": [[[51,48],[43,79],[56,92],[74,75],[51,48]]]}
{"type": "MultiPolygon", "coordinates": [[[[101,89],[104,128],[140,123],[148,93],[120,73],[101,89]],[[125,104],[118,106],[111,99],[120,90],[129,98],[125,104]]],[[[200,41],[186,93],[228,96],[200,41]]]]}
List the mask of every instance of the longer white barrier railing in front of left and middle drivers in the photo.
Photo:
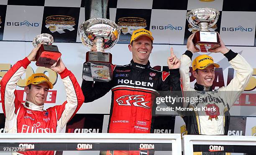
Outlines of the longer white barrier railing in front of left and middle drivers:
{"type": "MultiPolygon", "coordinates": [[[[110,143],[113,144],[137,144],[136,147],[140,146],[140,144],[154,144],[154,149],[157,150],[157,143],[159,145],[166,144],[166,148],[172,150],[172,155],[181,155],[181,136],[180,134],[133,134],[133,133],[5,133],[0,134],[0,151],[3,151],[3,147],[6,144],[16,144],[18,147],[18,143],[36,143],[36,145],[40,145],[40,148],[45,147],[47,145],[43,145],[46,143],[50,143],[48,145],[51,149],[54,148],[54,144],[56,147],[61,148],[65,143],[68,143],[66,147],[72,147],[71,150],[75,150],[75,147],[78,146],[77,143],[90,143],[93,145],[97,145],[95,148],[99,147],[100,143],[102,145],[105,144],[105,147],[110,143]],[[75,145],[73,145],[74,143],[75,145]]],[[[110,146],[110,145],[109,145],[110,146]]],[[[7,146],[6,146],[7,147],[7,146]]],[[[103,146],[104,147],[104,146],[103,146]]],[[[159,147],[161,148],[161,147],[159,147]]],[[[57,149],[56,149],[57,150],[57,149]]],[[[138,147],[139,150],[139,147],[138,147]]]]}

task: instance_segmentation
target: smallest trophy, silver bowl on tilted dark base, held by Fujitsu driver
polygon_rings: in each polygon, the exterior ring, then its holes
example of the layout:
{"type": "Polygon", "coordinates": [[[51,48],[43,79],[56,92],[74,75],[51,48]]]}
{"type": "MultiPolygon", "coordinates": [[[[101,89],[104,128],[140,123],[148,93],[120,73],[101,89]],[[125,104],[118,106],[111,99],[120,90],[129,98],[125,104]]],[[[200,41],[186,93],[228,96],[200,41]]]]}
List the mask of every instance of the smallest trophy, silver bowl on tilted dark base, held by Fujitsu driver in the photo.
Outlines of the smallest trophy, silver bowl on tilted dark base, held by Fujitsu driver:
{"type": "Polygon", "coordinates": [[[61,57],[61,53],[56,45],[51,45],[53,41],[53,36],[47,33],[37,35],[32,41],[34,47],[38,47],[39,44],[42,44],[36,53],[37,66],[49,68],[56,66],[61,57]]]}

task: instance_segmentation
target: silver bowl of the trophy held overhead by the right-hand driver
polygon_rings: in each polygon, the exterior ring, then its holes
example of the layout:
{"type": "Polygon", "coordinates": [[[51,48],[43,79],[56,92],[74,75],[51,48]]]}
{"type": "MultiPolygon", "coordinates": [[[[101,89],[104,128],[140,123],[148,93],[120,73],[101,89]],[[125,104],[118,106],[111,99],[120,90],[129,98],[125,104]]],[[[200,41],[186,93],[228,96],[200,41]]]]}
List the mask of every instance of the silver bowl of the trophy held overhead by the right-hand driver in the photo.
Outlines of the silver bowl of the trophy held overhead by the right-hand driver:
{"type": "Polygon", "coordinates": [[[193,28],[209,31],[207,28],[217,23],[219,15],[220,12],[213,8],[197,8],[187,13],[187,21],[193,28]],[[205,23],[205,25],[202,25],[202,23],[205,23]]]}

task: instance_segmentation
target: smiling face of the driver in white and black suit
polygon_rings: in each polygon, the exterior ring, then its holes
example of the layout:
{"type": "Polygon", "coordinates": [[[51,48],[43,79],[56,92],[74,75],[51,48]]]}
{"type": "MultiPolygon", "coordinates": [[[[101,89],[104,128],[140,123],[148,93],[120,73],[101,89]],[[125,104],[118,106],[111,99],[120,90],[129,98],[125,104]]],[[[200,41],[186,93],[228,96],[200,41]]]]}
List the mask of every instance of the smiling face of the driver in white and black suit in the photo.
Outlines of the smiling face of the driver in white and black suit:
{"type": "Polygon", "coordinates": [[[193,76],[196,78],[197,83],[205,87],[212,86],[215,77],[214,65],[210,65],[203,70],[197,69],[192,71],[193,76]]]}

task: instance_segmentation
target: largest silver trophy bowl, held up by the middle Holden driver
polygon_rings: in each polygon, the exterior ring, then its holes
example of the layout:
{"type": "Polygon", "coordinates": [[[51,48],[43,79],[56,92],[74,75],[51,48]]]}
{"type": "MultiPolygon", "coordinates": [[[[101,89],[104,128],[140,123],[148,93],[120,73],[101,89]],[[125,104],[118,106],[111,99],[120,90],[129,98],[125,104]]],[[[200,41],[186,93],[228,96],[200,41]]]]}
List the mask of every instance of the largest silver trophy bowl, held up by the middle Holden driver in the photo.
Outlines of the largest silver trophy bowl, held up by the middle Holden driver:
{"type": "Polygon", "coordinates": [[[79,27],[79,37],[82,43],[88,47],[96,45],[100,52],[113,47],[118,42],[119,36],[119,26],[112,20],[105,18],[89,19],[79,27]]]}

